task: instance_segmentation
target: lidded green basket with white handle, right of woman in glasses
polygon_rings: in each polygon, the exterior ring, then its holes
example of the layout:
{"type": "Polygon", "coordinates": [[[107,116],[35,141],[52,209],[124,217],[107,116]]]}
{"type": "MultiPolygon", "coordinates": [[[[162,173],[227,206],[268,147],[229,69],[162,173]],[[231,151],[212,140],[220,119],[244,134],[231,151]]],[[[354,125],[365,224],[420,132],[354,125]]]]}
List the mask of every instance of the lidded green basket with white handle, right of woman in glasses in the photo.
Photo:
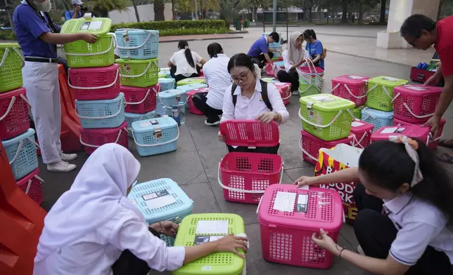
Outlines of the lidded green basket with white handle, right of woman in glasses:
{"type": "Polygon", "coordinates": [[[302,128],[321,140],[340,140],[350,135],[354,102],[335,95],[308,95],[300,98],[302,128]]]}

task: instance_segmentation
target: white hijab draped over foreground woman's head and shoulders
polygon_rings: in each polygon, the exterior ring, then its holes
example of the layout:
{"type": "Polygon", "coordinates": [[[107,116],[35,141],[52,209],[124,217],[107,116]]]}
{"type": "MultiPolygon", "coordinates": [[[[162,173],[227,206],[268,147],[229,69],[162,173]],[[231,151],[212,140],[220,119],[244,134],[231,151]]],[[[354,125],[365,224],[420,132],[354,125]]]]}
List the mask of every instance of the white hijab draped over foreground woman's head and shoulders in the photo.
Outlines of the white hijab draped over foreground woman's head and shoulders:
{"type": "Polygon", "coordinates": [[[126,198],[139,170],[139,161],[125,147],[110,143],[96,149],[71,189],[60,196],[44,219],[34,262],[98,229],[121,208],[129,208],[145,222],[140,210],[126,198]]]}

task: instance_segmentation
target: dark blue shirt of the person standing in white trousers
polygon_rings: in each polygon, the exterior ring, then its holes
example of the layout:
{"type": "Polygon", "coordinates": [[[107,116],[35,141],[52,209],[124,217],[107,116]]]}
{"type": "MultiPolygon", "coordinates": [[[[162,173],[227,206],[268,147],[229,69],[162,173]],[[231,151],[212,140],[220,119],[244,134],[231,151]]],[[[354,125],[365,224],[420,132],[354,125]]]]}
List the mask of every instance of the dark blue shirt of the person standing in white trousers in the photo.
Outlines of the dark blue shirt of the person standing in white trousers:
{"type": "MultiPolygon", "coordinates": [[[[46,32],[51,32],[49,27],[51,22],[45,15],[42,15],[42,18],[26,4],[17,6],[13,15],[15,36],[25,56],[57,58],[56,46],[38,38],[46,32]],[[46,20],[46,23],[43,20],[46,20]]],[[[53,27],[60,32],[60,26],[54,24],[53,27]]]]}

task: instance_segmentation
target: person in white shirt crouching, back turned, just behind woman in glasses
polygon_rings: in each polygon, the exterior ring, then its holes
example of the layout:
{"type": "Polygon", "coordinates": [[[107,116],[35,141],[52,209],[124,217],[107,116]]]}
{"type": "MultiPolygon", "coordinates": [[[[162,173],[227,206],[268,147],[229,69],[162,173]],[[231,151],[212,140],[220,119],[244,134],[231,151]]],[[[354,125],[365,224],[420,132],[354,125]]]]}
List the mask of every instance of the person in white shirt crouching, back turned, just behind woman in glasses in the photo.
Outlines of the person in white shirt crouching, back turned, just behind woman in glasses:
{"type": "Polygon", "coordinates": [[[192,101],[207,117],[205,124],[214,126],[220,123],[224,93],[231,86],[231,76],[228,73],[229,58],[224,55],[219,43],[210,43],[208,54],[211,59],[203,65],[203,74],[209,86],[209,93],[197,93],[192,101]]]}

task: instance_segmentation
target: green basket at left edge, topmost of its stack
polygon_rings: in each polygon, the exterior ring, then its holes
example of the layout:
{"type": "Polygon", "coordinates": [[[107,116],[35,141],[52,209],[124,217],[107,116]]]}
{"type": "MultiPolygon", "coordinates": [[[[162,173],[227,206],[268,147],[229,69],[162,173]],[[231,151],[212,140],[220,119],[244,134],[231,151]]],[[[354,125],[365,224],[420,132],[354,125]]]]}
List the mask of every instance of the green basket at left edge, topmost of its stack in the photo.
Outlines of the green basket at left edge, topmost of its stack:
{"type": "Polygon", "coordinates": [[[18,43],[0,43],[0,93],[23,86],[24,65],[18,43]]]}

